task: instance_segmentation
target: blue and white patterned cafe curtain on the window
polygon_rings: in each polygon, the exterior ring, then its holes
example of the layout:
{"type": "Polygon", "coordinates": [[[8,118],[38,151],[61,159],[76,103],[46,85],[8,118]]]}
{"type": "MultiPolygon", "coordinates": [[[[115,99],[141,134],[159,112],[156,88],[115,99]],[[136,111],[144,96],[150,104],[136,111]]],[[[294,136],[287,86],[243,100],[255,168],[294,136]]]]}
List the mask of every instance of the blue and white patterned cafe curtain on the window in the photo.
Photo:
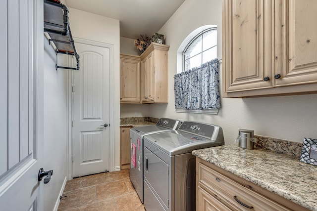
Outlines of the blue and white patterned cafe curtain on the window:
{"type": "Polygon", "coordinates": [[[219,61],[174,76],[175,108],[187,110],[219,109],[219,61]]]}

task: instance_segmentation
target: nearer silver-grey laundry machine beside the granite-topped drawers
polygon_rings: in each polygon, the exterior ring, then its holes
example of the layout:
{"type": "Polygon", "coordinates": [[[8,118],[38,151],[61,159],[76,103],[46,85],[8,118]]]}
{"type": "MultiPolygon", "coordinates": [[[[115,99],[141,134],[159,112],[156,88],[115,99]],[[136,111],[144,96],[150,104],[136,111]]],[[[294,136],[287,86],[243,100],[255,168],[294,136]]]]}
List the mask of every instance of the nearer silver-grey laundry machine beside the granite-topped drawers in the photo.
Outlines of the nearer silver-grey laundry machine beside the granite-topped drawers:
{"type": "Polygon", "coordinates": [[[144,207],[147,211],[195,211],[193,150],[224,145],[221,127],[185,121],[174,131],[144,138],[144,207]]]}

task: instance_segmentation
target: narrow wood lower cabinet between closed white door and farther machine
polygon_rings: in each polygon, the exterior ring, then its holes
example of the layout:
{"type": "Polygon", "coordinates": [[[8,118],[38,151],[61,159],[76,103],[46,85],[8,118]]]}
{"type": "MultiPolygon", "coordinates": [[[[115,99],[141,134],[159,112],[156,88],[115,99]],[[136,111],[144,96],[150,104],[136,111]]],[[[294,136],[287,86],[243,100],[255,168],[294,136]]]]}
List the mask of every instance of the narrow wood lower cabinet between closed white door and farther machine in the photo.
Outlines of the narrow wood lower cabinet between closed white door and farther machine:
{"type": "Polygon", "coordinates": [[[130,128],[120,127],[120,168],[130,168],[130,128]]]}

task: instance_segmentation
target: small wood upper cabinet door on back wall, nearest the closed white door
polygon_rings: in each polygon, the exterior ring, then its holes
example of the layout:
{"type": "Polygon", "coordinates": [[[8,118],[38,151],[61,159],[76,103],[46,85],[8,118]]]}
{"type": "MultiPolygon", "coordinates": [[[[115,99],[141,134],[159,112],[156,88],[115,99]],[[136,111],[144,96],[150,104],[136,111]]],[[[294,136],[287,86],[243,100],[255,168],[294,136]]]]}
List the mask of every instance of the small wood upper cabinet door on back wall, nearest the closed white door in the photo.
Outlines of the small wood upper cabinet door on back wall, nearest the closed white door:
{"type": "Polygon", "coordinates": [[[140,56],[120,54],[120,103],[141,103],[140,56]]]}

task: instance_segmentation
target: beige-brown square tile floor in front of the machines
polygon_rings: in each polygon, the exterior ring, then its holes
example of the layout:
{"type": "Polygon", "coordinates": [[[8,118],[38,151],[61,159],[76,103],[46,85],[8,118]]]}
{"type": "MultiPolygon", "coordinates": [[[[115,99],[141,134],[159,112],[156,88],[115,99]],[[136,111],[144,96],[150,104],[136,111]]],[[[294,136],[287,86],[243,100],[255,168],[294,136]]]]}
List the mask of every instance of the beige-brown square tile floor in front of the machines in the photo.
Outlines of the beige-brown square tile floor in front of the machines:
{"type": "Polygon", "coordinates": [[[58,211],[145,211],[129,178],[129,170],[69,180],[58,211]]]}

